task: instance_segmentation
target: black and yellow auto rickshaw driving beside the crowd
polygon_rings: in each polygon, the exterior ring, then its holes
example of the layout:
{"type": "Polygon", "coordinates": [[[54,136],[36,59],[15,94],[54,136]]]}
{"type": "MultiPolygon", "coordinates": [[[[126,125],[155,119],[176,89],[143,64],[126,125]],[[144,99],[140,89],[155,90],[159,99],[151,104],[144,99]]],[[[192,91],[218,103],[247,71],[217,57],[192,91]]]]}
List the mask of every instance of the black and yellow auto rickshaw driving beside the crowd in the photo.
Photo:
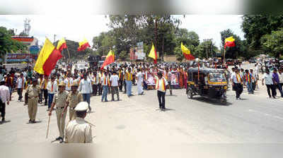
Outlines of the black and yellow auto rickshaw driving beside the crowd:
{"type": "Polygon", "coordinates": [[[187,98],[200,95],[226,104],[227,81],[224,70],[214,68],[189,68],[187,71],[187,98]]]}

